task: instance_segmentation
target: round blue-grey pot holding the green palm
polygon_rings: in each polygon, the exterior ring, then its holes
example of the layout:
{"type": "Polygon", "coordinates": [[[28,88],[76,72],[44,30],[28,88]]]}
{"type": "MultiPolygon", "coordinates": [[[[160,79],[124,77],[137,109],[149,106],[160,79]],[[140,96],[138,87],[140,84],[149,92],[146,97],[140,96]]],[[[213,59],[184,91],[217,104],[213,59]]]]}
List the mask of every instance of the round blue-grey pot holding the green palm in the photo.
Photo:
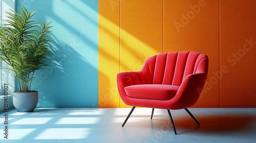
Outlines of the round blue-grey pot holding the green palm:
{"type": "Polygon", "coordinates": [[[18,112],[33,112],[38,103],[38,91],[13,92],[13,106],[18,112]]]}

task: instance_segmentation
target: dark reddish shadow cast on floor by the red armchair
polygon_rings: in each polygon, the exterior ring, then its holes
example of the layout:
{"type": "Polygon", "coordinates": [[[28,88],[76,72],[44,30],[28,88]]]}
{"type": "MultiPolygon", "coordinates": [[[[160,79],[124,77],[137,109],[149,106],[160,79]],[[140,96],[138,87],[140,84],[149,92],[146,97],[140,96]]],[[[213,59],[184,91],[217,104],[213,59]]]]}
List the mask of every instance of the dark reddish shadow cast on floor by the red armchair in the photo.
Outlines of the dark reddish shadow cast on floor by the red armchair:
{"type": "MultiPolygon", "coordinates": [[[[250,128],[255,126],[256,117],[250,115],[201,115],[196,116],[200,126],[190,116],[176,116],[174,123],[178,134],[182,133],[232,133],[232,132],[250,132],[250,128]]],[[[172,124],[168,118],[153,118],[152,128],[161,128],[161,126],[168,125],[172,128],[172,124]]],[[[166,127],[166,126],[165,126],[166,127]]],[[[170,129],[169,128],[169,129],[170,129]]]]}

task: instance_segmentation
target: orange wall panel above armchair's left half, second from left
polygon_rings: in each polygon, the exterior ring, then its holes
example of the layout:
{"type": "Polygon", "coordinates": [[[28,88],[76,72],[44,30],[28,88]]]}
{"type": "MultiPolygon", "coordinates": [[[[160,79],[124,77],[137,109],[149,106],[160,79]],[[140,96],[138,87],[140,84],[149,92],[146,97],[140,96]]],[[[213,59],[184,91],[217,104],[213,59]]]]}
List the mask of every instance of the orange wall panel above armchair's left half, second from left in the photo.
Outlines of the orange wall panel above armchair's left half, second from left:
{"type": "MultiPolygon", "coordinates": [[[[123,1],[120,5],[120,71],[138,71],[148,57],[159,53],[162,53],[162,2],[123,1]]],[[[121,102],[120,107],[127,106],[121,102]]]]}

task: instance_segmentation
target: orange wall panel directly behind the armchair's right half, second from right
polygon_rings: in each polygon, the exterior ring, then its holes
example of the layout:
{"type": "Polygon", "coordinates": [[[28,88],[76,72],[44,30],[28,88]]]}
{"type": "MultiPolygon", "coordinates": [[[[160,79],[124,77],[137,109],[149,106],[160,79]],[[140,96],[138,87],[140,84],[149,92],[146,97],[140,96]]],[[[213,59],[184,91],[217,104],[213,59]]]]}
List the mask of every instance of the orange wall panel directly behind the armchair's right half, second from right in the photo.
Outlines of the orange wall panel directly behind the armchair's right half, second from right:
{"type": "Polygon", "coordinates": [[[219,107],[219,1],[163,3],[163,52],[197,51],[209,57],[208,79],[194,107],[219,107]]]}

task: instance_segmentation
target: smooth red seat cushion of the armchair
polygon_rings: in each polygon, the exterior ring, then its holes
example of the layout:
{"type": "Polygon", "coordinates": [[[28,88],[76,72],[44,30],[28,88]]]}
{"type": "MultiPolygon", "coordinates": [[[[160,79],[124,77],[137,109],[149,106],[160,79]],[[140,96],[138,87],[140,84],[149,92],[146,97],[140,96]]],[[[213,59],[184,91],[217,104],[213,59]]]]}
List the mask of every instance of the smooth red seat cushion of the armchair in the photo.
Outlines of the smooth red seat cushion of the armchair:
{"type": "Polygon", "coordinates": [[[179,86],[165,84],[140,84],[124,88],[127,96],[139,99],[169,100],[172,99],[179,86]]]}

